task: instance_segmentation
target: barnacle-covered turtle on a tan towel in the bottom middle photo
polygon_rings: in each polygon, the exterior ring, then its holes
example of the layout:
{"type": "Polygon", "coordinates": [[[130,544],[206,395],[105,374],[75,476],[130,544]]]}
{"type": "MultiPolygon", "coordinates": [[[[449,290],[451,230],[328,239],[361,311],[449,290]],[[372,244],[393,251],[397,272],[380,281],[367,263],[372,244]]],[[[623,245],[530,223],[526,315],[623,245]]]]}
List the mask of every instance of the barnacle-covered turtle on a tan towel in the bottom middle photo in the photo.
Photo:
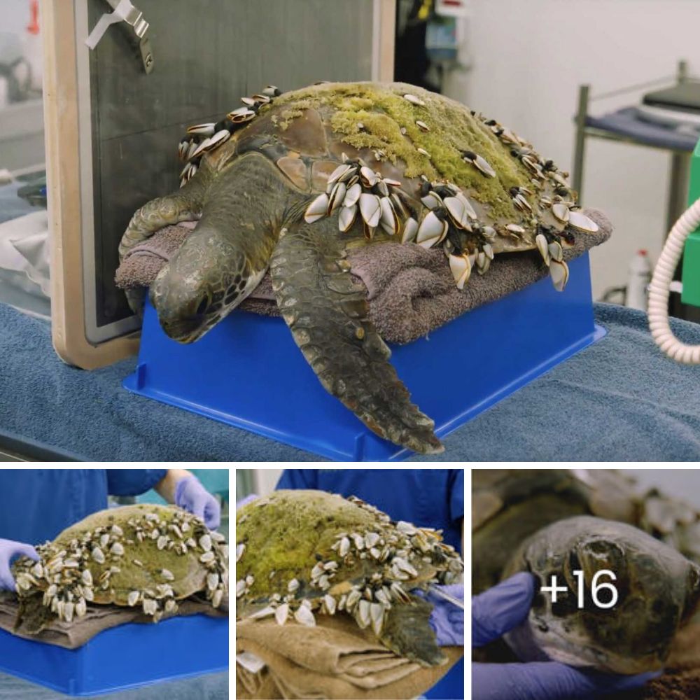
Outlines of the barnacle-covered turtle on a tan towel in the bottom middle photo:
{"type": "Polygon", "coordinates": [[[274,491],[236,515],[237,619],[314,626],[315,615],[351,615],[396,654],[443,664],[433,606],[410,592],[461,580],[463,562],[441,540],[354,496],[274,491]]]}

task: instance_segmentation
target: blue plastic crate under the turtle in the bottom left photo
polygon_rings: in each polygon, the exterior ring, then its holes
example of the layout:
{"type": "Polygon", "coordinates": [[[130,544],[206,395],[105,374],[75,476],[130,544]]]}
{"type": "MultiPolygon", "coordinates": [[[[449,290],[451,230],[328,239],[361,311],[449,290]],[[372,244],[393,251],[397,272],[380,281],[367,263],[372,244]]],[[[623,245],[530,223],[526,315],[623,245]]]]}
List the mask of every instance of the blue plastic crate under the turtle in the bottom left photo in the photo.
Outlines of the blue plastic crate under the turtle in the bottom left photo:
{"type": "Polygon", "coordinates": [[[73,696],[228,670],[228,619],[189,615],[106,629],[64,649],[0,629],[0,670],[73,696]]]}

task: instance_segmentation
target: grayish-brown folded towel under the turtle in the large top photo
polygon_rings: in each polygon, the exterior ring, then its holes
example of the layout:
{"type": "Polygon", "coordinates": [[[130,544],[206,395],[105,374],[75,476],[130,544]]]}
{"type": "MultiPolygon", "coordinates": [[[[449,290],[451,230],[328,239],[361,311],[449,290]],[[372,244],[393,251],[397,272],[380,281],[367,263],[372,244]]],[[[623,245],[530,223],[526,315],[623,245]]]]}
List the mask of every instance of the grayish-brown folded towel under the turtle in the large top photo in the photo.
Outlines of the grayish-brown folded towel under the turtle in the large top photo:
{"type": "MultiPolygon", "coordinates": [[[[564,251],[573,260],[589,248],[610,238],[612,225],[601,211],[587,209],[598,224],[595,234],[577,233],[576,242],[564,251]]],[[[191,225],[167,226],[127,254],[116,273],[123,289],[148,286],[177,251],[191,225]]],[[[400,243],[377,244],[351,251],[351,272],[367,288],[370,318],[386,342],[404,344],[439,328],[465,311],[523,289],[549,274],[540,255],[507,253],[496,255],[489,272],[472,274],[458,290],[441,248],[426,251],[421,246],[400,243]]],[[[279,316],[269,274],[265,274],[241,309],[266,316],[279,316]]]]}

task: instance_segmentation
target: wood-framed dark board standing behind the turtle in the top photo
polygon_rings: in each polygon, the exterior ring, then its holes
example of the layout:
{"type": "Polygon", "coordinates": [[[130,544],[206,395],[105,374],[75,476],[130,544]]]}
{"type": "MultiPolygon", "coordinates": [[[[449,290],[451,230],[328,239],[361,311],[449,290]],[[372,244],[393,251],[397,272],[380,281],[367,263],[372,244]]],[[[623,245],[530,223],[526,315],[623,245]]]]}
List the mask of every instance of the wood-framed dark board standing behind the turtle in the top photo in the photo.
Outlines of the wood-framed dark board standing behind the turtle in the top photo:
{"type": "Polygon", "coordinates": [[[139,320],[113,283],[138,207],[177,188],[187,125],[218,120],[268,83],[391,80],[395,0],[132,0],[148,22],[144,71],[125,22],[85,45],[106,0],[42,0],[52,236],[52,335],[85,369],[137,351],[139,320]]]}

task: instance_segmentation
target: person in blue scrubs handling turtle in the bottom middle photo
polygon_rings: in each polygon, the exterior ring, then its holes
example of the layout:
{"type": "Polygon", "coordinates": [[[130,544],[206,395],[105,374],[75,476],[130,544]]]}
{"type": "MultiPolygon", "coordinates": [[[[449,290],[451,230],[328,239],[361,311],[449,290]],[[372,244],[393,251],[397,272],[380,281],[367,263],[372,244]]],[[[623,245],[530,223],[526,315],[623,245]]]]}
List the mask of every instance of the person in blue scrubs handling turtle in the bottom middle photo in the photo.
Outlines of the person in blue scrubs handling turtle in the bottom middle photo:
{"type": "MultiPolygon", "coordinates": [[[[464,470],[462,469],[286,469],[277,489],[319,489],[357,496],[383,510],[393,520],[442,530],[447,544],[463,551],[464,470]]],[[[464,599],[463,584],[445,586],[464,599]]],[[[442,645],[464,644],[464,611],[437,596],[430,617],[442,645]]],[[[427,698],[457,697],[463,692],[463,660],[426,693],[427,698]]]]}

